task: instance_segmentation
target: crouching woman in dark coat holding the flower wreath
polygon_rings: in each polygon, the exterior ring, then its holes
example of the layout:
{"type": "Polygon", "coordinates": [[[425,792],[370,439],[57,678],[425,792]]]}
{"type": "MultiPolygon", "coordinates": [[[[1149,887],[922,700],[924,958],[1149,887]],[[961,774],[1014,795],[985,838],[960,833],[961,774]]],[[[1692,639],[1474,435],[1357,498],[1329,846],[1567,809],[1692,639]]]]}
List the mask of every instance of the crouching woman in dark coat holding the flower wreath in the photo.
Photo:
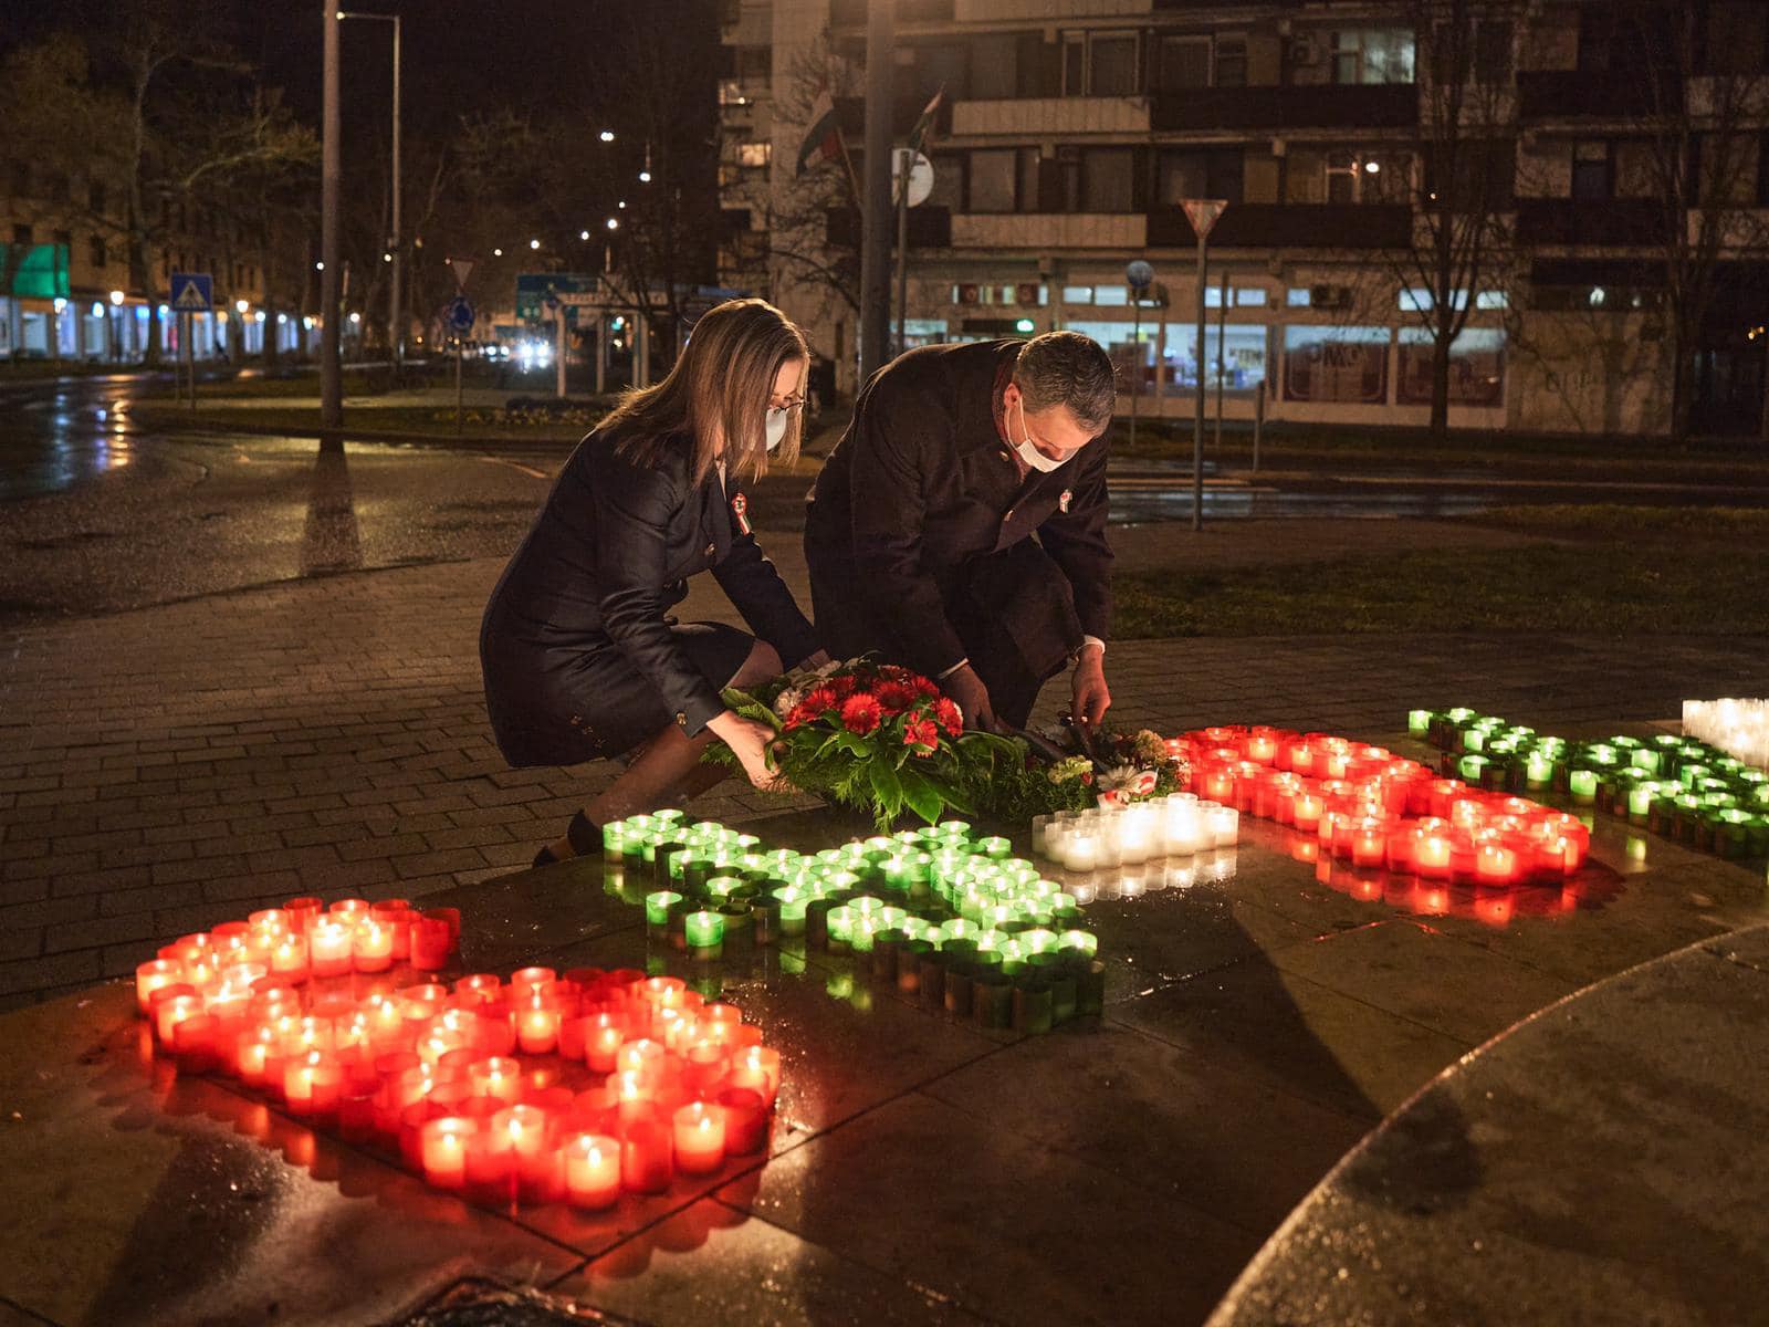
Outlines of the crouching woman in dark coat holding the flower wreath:
{"type": "Polygon", "coordinates": [[[750,533],[745,478],[798,453],[808,352],[761,299],[708,311],[669,377],[586,437],[509,566],[479,632],[485,704],[513,766],[633,754],[536,865],[600,851],[601,825],[718,779],[716,738],[768,787],[773,733],[725,708],[782,665],[823,664],[805,614],[750,533]],[[755,635],[667,616],[711,570],[755,635]]]}

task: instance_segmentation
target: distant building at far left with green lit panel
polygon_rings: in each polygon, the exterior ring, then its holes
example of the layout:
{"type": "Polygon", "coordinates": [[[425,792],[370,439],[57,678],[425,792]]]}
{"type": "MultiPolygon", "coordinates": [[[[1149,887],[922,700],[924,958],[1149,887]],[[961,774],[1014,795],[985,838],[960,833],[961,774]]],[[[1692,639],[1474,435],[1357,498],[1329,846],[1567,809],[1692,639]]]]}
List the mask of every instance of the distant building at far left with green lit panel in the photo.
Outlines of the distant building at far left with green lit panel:
{"type": "MultiPolygon", "coordinates": [[[[315,320],[299,301],[271,301],[262,271],[265,244],[241,235],[202,203],[163,203],[149,287],[131,281],[122,191],[103,179],[71,179],[28,157],[0,161],[0,359],[138,363],[159,306],[159,343],[182,354],[170,299],[172,272],[209,272],[216,310],[191,318],[198,359],[317,345],[315,320]]],[[[304,265],[304,264],[299,264],[304,265]]]]}

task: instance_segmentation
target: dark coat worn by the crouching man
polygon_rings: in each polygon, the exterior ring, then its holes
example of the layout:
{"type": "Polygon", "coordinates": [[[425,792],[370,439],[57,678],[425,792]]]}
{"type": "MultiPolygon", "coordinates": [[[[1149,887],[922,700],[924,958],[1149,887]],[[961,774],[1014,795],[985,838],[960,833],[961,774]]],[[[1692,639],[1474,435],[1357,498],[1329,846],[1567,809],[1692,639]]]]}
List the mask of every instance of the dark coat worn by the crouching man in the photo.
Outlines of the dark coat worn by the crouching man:
{"type": "Polygon", "coordinates": [[[812,582],[849,577],[847,593],[927,676],[968,653],[948,617],[952,573],[1031,536],[1068,580],[1081,630],[1109,635],[1107,448],[1090,442],[1021,479],[994,421],[996,386],[1021,345],[930,345],[893,359],[860,393],[812,488],[812,582]]]}

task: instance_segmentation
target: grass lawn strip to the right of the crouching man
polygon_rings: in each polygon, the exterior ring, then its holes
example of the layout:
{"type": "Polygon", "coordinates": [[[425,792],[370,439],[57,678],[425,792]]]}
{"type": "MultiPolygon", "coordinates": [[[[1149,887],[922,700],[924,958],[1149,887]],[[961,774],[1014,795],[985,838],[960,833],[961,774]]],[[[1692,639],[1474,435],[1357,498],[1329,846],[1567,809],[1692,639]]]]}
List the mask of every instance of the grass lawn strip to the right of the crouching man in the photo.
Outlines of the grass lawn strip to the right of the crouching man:
{"type": "Polygon", "coordinates": [[[1502,508],[1479,522],[1576,541],[1127,573],[1114,633],[1769,633],[1769,511],[1502,508]]]}

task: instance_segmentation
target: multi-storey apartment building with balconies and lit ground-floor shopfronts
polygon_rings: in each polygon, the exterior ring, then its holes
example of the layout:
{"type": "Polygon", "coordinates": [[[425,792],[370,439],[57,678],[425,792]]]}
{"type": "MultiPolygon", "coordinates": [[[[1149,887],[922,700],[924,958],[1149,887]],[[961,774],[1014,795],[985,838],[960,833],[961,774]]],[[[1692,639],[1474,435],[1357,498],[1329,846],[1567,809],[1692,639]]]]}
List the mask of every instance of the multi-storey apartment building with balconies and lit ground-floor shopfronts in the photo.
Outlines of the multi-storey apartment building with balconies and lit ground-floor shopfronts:
{"type": "MultiPolygon", "coordinates": [[[[727,0],[720,90],[720,280],[798,317],[849,389],[858,212],[846,179],[863,142],[865,11],[727,0]],[[847,157],[816,154],[800,173],[824,96],[847,157]],[[816,235],[807,188],[823,191],[816,235]]],[[[1421,425],[1433,292],[1447,290],[1467,313],[1449,352],[1454,426],[1656,433],[1681,391],[1689,428],[1757,435],[1765,12],[1723,0],[897,0],[897,142],[943,92],[934,189],[909,225],[904,341],[1072,327],[1111,350],[1122,407],[1134,391],[1143,416],[1189,416],[1203,373],[1231,419],[1261,407],[1421,425]],[[1458,9],[1452,39],[1444,16],[1458,9]],[[1445,131],[1445,104],[1459,131],[1445,131]],[[1433,237],[1472,177],[1491,226],[1477,260],[1452,264],[1456,285],[1433,237]],[[1228,200],[1203,345],[1187,198],[1228,200]],[[1155,285],[1132,304],[1136,258],[1155,285]]]]}

